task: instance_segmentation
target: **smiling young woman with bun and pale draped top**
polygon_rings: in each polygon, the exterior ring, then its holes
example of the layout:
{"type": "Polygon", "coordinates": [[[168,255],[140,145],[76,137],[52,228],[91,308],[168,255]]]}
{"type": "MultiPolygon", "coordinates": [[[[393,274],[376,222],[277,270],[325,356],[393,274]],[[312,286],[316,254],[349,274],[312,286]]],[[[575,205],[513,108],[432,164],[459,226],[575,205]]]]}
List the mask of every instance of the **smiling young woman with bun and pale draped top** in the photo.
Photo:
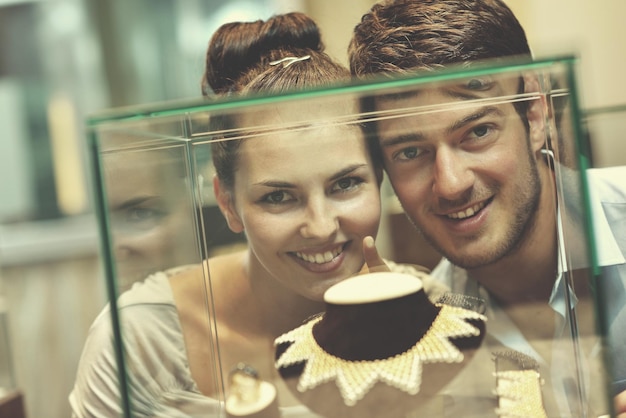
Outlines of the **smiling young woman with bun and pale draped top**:
{"type": "MultiPolygon", "coordinates": [[[[292,13],[218,29],[203,92],[277,93],[348,78],[323,52],[315,23],[292,13]]],[[[245,233],[246,249],[154,274],[121,296],[134,416],[210,416],[228,391],[221,373],[242,362],[276,385],[284,416],[312,415],[283,387],[273,342],[321,312],[326,289],[367,269],[363,242],[378,230],[382,172],[359,126],[336,122],[357,113],[357,103],[304,103],[221,121],[297,129],[253,129],[246,139],[212,144],[217,202],[230,229],[245,233]]],[[[77,417],[121,410],[107,319],[94,324],[81,359],[70,396],[77,417]]]]}

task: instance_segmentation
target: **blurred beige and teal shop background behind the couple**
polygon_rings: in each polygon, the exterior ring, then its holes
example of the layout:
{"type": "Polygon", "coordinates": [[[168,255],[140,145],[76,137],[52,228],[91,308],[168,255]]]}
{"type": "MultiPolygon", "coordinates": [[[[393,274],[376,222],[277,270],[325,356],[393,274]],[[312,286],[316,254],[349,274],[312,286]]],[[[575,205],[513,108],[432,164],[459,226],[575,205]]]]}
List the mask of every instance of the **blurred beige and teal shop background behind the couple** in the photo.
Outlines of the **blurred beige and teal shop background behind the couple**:
{"type": "MultiPolygon", "coordinates": [[[[0,0],[0,417],[16,416],[2,409],[14,389],[26,416],[69,417],[82,344],[107,302],[85,118],[198,98],[207,42],[227,21],[308,13],[347,63],[352,28],[373,3],[0,0]]],[[[580,57],[584,108],[626,103],[626,2],[507,3],[536,56],[580,57]]]]}

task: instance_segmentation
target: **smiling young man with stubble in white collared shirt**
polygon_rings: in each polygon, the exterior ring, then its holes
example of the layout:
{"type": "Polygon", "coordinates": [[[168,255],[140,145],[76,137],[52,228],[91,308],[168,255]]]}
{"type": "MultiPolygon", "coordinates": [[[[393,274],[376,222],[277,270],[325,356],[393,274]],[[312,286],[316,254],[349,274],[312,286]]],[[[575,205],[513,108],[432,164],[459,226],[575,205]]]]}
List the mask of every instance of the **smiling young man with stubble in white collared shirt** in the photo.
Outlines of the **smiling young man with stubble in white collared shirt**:
{"type": "MultiPolygon", "coordinates": [[[[531,58],[523,28],[500,0],[384,1],[356,26],[349,53],[357,77],[531,58]]],[[[471,80],[464,87],[379,99],[375,106],[388,110],[454,104],[538,90],[532,77],[488,78],[471,80]]],[[[568,402],[572,391],[578,391],[572,382],[591,378],[589,370],[582,372],[587,377],[575,376],[577,370],[565,372],[571,364],[563,361],[569,358],[563,350],[568,339],[595,332],[594,298],[589,270],[566,266],[564,251],[571,251],[570,260],[586,256],[583,222],[576,218],[581,205],[574,199],[572,210],[568,211],[567,201],[559,207],[561,186],[545,146],[546,103],[541,99],[526,103],[452,106],[449,112],[384,119],[377,123],[376,133],[385,170],[405,212],[445,257],[433,276],[454,292],[485,299],[487,330],[493,340],[537,358],[545,366],[542,373],[551,387],[546,393],[554,396],[557,414],[578,416],[577,408],[585,405],[568,402]],[[568,287],[573,289],[566,291],[568,287]],[[575,306],[577,318],[566,306],[575,306]]],[[[564,166],[564,178],[576,176],[565,157],[559,164],[564,166]]],[[[611,289],[602,296],[611,297],[607,323],[616,366],[615,393],[624,390],[626,378],[626,367],[619,361],[626,334],[626,325],[619,321],[626,317],[622,312],[626,187],[617,179],[616,171],[589,173],[596,238],[602,242],[598,263],[602,280],[610,281],[605,289],[611,289]]],[[[568,193],[563,195],[571,199],[568,193]]],[[[583,344],[582,357],[590,358],[594,346],[583,344]]],[[[591,380],[591,385],[601,383],[591,380]]],[[[626,408],[618,404],[617,411],[626,408]]]]}

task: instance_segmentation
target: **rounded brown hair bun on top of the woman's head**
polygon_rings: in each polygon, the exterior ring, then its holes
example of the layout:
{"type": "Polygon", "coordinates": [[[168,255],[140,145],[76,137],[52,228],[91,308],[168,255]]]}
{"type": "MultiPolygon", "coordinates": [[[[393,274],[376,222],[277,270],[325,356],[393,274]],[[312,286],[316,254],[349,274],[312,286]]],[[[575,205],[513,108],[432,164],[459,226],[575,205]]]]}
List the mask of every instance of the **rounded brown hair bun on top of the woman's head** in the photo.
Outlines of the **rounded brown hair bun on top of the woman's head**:
{"type": "Polygon", "coordinates": [[[233,22],[222,25],[209,43],[202,88],[216,94],[230,91],[251,68],[267,65],[272,57],[294,55],[290,51],[321,52],[317,24],[303,13],[287,13],[266,21],[233,22]]]}

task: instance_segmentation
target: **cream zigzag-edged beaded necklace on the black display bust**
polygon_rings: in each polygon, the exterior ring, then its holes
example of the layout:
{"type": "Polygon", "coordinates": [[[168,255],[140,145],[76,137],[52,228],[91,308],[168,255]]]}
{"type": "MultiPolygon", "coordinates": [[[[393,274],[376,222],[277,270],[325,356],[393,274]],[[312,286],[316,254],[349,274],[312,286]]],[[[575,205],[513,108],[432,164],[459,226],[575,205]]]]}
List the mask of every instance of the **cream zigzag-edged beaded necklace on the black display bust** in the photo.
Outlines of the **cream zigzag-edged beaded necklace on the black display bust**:
{"type": "Polygon", "coordinates": [[[278,337],[275,345],[292,343],[276,361],[276,367],[306,362],[298,381],[298,390],[305,392],[335,380],[348,406],[355,405],[376,384],[384,382],[411,395],[419,392],[422,365],[427,363],[460,363],[463,353],[450,342],[451,338],[475,337],[480,330],[466,320],[486,321],[485,316],[454,306],[441,308],[424,336],[404,353],[381,360],[350,361],[325,352],[313,337],[313,327],[323,315],[278,337]]]}

